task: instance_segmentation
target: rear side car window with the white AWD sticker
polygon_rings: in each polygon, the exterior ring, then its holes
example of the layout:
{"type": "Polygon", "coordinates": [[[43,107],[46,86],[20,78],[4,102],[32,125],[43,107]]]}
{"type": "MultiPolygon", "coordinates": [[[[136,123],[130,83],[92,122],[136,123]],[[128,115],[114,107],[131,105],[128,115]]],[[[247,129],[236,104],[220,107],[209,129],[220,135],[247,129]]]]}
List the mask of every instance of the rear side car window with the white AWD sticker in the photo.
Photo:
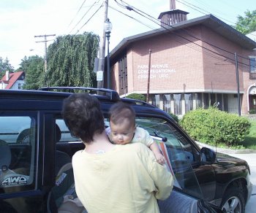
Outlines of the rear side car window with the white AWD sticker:
{"type": "Polygon", "coordinates": [[[36,113],[4,112],[0,120],[0,193],[15,187],[31,190],[36,173],[36,113]]]}

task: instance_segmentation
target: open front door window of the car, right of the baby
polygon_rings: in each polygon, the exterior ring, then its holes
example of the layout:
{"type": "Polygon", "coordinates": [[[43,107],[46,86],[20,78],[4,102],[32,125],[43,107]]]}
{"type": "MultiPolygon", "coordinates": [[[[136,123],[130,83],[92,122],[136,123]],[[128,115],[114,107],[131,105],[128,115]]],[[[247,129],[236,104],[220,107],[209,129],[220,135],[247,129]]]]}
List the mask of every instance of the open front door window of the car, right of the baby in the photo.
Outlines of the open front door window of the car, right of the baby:
{"type": "Polygon", "coordinates": [[[160,145],[162,152],[166,152],[175,187],[189,195],[203,198],[192,169],[192,163],[196,163],[200,155],[178,129],[166,120],[154,117],[136,117],[136,125],[146,129],[160,145]]]}

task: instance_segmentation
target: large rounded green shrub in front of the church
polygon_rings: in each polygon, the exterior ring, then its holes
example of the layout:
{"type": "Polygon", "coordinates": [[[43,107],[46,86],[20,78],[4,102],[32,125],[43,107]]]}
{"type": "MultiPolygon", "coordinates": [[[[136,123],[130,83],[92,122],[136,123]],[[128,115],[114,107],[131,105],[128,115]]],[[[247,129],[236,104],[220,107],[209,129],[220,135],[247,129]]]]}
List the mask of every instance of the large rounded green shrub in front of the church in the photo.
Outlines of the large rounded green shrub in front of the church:
{"type": "Polygon", "coordinates": [[[225,143],[227,146],[244,142],[251,125],[246,117],[238,117],[214,107],[189,111],[180,124],[199,142],[225,143]]]}

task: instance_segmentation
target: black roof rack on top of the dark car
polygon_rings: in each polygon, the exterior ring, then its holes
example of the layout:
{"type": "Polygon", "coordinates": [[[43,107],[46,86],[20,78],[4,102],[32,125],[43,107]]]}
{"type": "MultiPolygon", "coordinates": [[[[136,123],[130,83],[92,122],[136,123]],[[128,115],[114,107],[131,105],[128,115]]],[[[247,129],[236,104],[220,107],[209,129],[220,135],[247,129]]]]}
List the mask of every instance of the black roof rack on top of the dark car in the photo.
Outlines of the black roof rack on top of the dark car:
{"type": "Polygon", "coordinates": [[[51,91],[51,90],[68,90],[69,93],[75,90],[84,90],[87,91],[90,94],[99,94],[105,93],[105,96],[108,96],[110,100],[118,101],[120,100],[119,94],[115,90],[105,89],[105,88],[83,88],[83,87],[45,87],[45,88],[39,88],[38,90],[43,91],[51,91]],[[99,93],[97,93],[99,92],[99,93]]]}

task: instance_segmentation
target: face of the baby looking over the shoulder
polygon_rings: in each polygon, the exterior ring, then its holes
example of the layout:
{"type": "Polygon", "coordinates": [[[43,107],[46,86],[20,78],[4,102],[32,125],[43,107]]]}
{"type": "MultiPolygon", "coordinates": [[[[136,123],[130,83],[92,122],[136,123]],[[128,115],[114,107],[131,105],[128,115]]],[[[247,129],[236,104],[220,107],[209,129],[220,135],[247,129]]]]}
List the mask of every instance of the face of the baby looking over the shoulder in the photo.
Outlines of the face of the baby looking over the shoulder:
{"type": "Polygon", "coordinates": [[[128,144],[132,141],[135,126],[124,119],[122,123],[114,124],[110,121],[111,139],[115,144],[128,144]]]}

